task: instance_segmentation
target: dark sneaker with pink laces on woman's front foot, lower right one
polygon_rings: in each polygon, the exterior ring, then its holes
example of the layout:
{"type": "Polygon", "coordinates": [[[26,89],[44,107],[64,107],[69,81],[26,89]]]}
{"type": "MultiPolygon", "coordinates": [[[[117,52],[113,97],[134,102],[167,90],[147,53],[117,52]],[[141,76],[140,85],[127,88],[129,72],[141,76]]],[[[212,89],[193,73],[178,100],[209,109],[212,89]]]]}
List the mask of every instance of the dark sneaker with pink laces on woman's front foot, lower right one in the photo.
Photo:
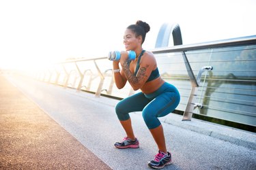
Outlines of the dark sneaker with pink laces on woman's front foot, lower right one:
{"type": "Polygon", "coordinates": [[[165,154],[159,150],[155,159],[151,160],[147,165],[154,169],[162,169],[165,165],[171,165],[171,153],[167,152],[165,154]]]}

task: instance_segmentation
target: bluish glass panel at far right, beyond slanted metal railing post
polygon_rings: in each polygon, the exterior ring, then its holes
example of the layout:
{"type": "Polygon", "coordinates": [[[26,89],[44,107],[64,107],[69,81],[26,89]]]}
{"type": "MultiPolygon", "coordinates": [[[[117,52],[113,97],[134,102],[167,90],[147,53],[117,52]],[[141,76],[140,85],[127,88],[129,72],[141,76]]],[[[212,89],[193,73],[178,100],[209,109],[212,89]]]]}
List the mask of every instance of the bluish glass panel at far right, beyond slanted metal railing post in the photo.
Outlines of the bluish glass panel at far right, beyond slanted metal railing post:
{"type": "Polygon", "coordinates": [[[197,102],[203,108],[193,113],[256,126],[256,46],[193,51],[187,57],[194,70],[214,68],[201,79],[197,102]]]}

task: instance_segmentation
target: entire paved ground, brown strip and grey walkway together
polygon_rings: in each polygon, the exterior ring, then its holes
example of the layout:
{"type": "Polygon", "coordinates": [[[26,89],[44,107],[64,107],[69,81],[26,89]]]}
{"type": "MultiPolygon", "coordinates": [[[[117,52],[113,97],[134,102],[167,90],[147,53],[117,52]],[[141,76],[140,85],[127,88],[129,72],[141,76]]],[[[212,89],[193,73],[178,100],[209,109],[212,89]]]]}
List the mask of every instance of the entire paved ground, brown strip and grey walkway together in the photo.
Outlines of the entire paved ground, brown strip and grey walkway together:
{"type": "MultiPolygon", "coordinates": [[[[149,169],[157,148],[140,112],[130,114],[140,148],[118,150],[117,100],[16,75],[0,82],[0,169],[149,169]]],[[[173,155],[165,169],[256,169],[255,133],[181,120],[161,118],[173,155]]]]}

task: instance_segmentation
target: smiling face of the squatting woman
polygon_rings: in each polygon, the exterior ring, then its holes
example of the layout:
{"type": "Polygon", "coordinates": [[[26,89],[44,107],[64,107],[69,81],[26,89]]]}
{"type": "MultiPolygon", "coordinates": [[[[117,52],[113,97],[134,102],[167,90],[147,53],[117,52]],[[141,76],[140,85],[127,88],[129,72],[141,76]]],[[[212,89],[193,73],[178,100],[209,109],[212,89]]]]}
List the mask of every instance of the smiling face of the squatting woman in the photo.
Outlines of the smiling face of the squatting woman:
{"type": "Polygon", "coordinates": [[[141,46],[141,36],[136,37],[130,29],[126,29],[124,32],[124,48],[126,51],[135,50],[138,46],[141,46]]]}

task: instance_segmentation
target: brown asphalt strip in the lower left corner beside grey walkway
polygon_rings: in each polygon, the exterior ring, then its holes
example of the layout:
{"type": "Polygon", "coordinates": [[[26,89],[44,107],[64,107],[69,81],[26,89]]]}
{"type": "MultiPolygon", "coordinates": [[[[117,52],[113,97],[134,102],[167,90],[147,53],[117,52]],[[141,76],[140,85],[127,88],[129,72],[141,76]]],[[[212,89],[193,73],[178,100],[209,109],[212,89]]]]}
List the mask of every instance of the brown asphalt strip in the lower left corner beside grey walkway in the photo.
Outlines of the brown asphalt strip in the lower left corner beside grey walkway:
{"type": "Polygon", "coordinates": [[[111,169],[0,75],[0,169],[111,169]]]}

